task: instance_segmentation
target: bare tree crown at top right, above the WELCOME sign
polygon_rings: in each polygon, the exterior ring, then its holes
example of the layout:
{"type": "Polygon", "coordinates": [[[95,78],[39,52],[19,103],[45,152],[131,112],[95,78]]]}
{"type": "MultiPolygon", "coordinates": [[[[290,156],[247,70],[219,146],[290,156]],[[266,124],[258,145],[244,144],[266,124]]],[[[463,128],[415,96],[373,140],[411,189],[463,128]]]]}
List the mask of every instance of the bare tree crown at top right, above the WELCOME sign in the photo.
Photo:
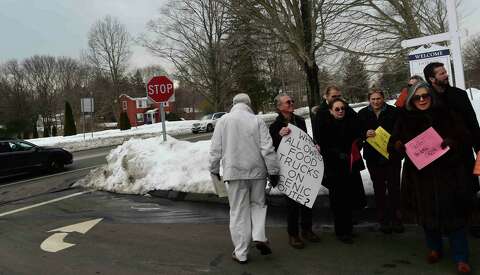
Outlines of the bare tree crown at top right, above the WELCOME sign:
{"type": "MultiPolygon", "coordinates": [[[[446,31],[445,0],[355,0],[328,46],[374,58],[405,55],[402,40],[446,31]]],[[[329,41],[330,42],[330,41],[329,41]]]]}

